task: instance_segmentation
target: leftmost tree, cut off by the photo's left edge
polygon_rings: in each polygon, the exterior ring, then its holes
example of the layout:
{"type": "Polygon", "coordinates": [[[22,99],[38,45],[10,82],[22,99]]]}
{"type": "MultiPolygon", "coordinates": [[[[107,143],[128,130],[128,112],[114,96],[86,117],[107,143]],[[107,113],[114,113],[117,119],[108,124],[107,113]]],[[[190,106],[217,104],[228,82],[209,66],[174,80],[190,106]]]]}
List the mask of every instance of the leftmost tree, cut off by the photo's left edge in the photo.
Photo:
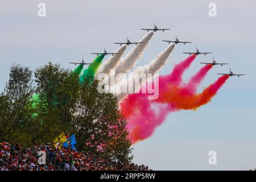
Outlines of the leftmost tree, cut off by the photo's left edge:
{"type": "Polygon", "coordinates": [[[10,78],[0,96],[0,139],[27,144],[26,126],[32,120],[34,92],[32,71],[28,67],[12,65],[10,78]]]}

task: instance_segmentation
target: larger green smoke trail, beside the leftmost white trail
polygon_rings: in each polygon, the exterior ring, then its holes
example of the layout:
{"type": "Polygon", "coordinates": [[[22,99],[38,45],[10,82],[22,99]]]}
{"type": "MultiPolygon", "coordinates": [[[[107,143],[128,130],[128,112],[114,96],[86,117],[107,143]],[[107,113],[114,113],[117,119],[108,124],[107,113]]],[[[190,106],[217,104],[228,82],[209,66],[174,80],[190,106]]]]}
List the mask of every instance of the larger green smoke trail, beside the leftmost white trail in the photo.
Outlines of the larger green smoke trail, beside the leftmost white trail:
{"type": "Polygon", "coordinates": [[[88,79],[89,82],[92,82],[97,72],[98,67],[102,63],[105,55],[97,56],[96,59],[93,60],[93,64],[89,65],[87,69],[84,70],[84,73],[80,77],[80,82],[84,83],[85,79],[88,79]]]}

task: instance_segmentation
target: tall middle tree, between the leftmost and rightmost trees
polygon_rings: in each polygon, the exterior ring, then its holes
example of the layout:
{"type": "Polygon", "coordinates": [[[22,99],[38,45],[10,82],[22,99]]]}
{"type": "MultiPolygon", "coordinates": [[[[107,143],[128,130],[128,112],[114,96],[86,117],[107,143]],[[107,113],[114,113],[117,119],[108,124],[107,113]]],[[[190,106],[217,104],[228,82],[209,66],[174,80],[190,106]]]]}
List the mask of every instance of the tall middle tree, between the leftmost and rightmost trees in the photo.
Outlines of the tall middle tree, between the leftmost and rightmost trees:
{"type": "Polygon", "coordinates": [[[35,82],[37,97],[34,106],[38,112],[34,127],[31,127],[34,130],[32,142],[53,142],[62,131],[67,131],[68,121],[64,115],[71,109],[70,85],[71,82],[76,85],[77,75],[60,68],[59,64],[48,63],[36,69],[35,82]]]}

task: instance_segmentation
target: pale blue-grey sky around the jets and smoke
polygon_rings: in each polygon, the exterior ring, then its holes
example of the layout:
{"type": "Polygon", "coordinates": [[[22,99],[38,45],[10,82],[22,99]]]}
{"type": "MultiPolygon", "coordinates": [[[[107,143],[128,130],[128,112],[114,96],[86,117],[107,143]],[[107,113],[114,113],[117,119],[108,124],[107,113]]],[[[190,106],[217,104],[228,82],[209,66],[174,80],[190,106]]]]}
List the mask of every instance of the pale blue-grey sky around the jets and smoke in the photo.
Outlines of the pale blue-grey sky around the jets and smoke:
{"type": "MultiPolygon", "coordinates": [[[[168,115],[154,135],[134,144],[134,163],[155,170],[248,170],[256,168],[256,2],[231,0],[23,0],[3,1],[0,6],[0,89],[9,78],[11,64],[32,70],[52,61],[74,69],[69,61],[94,59],[90,52],[115,51],[114,42],[138,41],[154,23],[171,31],[156,32],[137,66],[145,65],[174,39],[192,44],[176,46],[168,63],[159,72],[170,73],[186,58],[182,52],[213,52],[228,67],[214,67],[199,91],[217,79],[216,73],[245,73],[232,77],[213,100],[196,111],[168,115]],[[38,4],[46,4],[46,17],[38,16],[38,4]],[[216,3],[217,16],[210,17],[209,3],[216,3]],[[216,151],[217,164],[208,163],[209,151],[216,151]]],[[[126,53],[132,48],[127,49],[126,53]]],[[[198,56],[185,73],[187,80],[201,68],[198,56]]]]}

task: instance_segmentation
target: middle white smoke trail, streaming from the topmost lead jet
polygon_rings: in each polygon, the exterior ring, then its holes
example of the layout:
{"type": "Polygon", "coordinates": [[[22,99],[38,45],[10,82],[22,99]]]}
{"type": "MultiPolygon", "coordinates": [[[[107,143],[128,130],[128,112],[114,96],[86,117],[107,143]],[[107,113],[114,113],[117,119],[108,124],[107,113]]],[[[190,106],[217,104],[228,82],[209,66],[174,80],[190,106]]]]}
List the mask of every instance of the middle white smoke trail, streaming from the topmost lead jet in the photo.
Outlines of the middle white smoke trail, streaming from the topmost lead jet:
{"type": "Polygon", "coordinates": [[[149,32],[144,38],[140,41],[143,42],[141,44],[138,44],[135,46],[131,51],[125,56],[125,58],[119,62],[117,67],[115,68],[115,71],[113,73],[110,73],[110,76],[105,79],[105,83],[108,82],[109,87],[114,86],[119,81],[122,80],[122,75],[127,74],[130,69],[134,68],[134,65],[137,63],[137,61],[141,58],[143,55],[148,43],[150,42],[150,39],[154,35],[154,32],[149,32]],[[115,77],[114,82],[110,82],[110,78],[115,77]]]}

